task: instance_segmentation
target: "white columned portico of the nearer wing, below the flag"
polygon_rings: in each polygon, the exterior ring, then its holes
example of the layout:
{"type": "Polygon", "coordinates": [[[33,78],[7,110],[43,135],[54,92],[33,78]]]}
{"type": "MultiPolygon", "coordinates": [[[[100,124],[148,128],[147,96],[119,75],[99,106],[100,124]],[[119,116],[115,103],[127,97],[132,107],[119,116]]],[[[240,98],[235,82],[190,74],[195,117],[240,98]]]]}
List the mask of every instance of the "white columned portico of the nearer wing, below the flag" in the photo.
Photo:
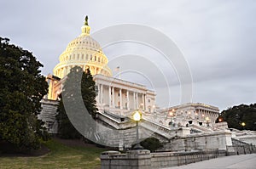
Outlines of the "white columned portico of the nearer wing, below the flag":
{"type": "Polygon", "coordinates": [[[100,110],[118,110],[121,114],[136,109],[152,111],[150,107],[154,105],[155,93],[145,86],[102,75],[94,76],[94,80],[98,87],[96,101],[100,110]]]}

